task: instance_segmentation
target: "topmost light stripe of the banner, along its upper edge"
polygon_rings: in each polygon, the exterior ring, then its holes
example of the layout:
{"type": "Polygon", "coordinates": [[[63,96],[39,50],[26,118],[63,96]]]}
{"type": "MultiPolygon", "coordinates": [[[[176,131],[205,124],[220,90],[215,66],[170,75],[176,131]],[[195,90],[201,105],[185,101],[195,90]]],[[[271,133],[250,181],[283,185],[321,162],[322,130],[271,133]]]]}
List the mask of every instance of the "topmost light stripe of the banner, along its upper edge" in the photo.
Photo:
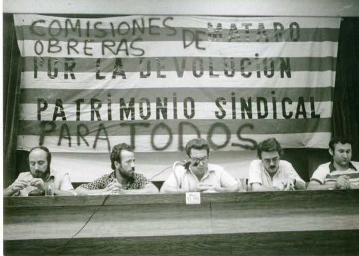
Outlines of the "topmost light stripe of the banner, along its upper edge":
{"type": "MultiPolygon", "coordinates": [[[[118,17],[106,17],[97,19],[73,19],[67,17],[56,17],[49,15],[38,14],[14,14],[14,22],[16,26],[28,25],[30,26],[34,21],[44,20],[44,22],[36,23],[36,26],[49,27],[54,20],[59,21],[61,27],[65,29],[66,20],[70,20],[73,27],[75,27],[76,21],[79,20],[81,28],[87,28],[87,22],[90,22],[90,28],[94,27],[95,22],[102,22],[98,28],[111,28],[111,24],[115,28],[121,23],[126,22],[133,27],[133,21],[141,27],[149,27],[149,21],[151,20],[152,26],[165,27],[190,27],[190,28],[207,28],[208,22],[212,23],[213,27],[217,27],[217,23],[221,23],[223,28],[230,28],[231,24],[236,24],[238,27],[243,27],[242,23],[251,23],[250,27],[257,28],[259,23],[263,23],[265,28],[273,28],[273,23],[281,23],[285,28],[288,28],[291,23],[295,22],[300,25],[301,28],[339,28],[341,18],[340,17],[221,17],[221,16],[171,16],[171,15],[129,15],[118,17]],[[173,19],[167,19],[172,17],[173,19]],[[144,25],[142,25],[142,19],[144,25]],[[165,21],[166,20],[166,21],[165,21]],[[165,21],[165,25],[164,25],[165,21]]],[[[56,23],[52,27],[56,27],[56,23]]],[[[70,28],[70,25],[67,26],[70,28]]],[[[137,26],[136,26],[137,27],[137,26]]]]}

